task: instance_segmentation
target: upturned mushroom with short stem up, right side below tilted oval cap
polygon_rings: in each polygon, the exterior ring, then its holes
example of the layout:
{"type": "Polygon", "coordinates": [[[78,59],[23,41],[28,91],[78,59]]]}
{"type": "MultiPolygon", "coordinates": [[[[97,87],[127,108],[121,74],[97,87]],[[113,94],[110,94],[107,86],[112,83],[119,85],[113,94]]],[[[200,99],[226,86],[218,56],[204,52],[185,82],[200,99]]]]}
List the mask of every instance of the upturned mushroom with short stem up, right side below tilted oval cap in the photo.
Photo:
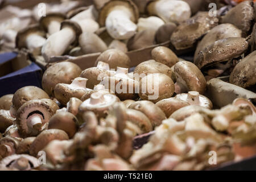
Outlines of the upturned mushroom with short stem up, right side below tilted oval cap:
{"type": "Polygon", "coordinates": [[[175,96],[177,100],[188,102],[190,105],[199,105],[207,109],[212,109],[212,101],[209,98],[199,94],[196,91],[189,91],[188,93],[180,93],[175,96]]]}

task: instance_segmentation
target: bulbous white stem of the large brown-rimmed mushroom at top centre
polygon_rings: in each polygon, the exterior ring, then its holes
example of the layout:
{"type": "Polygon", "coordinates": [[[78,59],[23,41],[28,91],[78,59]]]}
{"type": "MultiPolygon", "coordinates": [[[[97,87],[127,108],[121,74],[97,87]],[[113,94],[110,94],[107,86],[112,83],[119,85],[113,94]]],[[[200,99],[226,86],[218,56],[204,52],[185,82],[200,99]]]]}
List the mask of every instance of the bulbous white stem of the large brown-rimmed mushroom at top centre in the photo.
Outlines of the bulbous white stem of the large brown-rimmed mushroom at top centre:
{"type": "Polygon", "coordinates": [[[106,30],[114,39],[123,40],[131,38],[137,25],[131,20],[132,13],[124,6],[116,6],[106,18],[106,30]]]}

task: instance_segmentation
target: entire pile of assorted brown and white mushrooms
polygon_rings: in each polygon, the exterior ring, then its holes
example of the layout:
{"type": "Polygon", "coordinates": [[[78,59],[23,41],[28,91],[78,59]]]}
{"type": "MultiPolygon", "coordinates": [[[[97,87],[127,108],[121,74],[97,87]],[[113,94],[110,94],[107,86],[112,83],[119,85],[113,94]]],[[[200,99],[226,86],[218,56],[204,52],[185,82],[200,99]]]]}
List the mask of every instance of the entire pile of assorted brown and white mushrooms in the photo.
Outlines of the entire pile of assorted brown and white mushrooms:
{"type": "Polygon", "coordinates": [[[256,155],[256,4],[214,2],[214,16],[203,0],[2,7],[0,52],[47,69],[42,88],[0,97],[0,170],[203,170],[256,155]],[[84,70],[55,61],[94,53],[84,70]]]}

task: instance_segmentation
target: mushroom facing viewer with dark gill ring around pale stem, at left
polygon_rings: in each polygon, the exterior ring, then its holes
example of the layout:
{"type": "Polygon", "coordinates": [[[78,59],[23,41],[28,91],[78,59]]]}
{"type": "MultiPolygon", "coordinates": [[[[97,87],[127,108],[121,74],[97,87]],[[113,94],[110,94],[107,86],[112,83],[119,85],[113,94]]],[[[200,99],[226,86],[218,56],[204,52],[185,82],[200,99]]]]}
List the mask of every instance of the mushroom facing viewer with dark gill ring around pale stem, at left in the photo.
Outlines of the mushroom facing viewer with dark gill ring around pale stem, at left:
{"type": "Polygon", "coordinates": [[[34,137],[48,126],[49,119],[59,106],[52,100],[30,100],[19,107],[16,123],[24,137],[34,137]]]}

